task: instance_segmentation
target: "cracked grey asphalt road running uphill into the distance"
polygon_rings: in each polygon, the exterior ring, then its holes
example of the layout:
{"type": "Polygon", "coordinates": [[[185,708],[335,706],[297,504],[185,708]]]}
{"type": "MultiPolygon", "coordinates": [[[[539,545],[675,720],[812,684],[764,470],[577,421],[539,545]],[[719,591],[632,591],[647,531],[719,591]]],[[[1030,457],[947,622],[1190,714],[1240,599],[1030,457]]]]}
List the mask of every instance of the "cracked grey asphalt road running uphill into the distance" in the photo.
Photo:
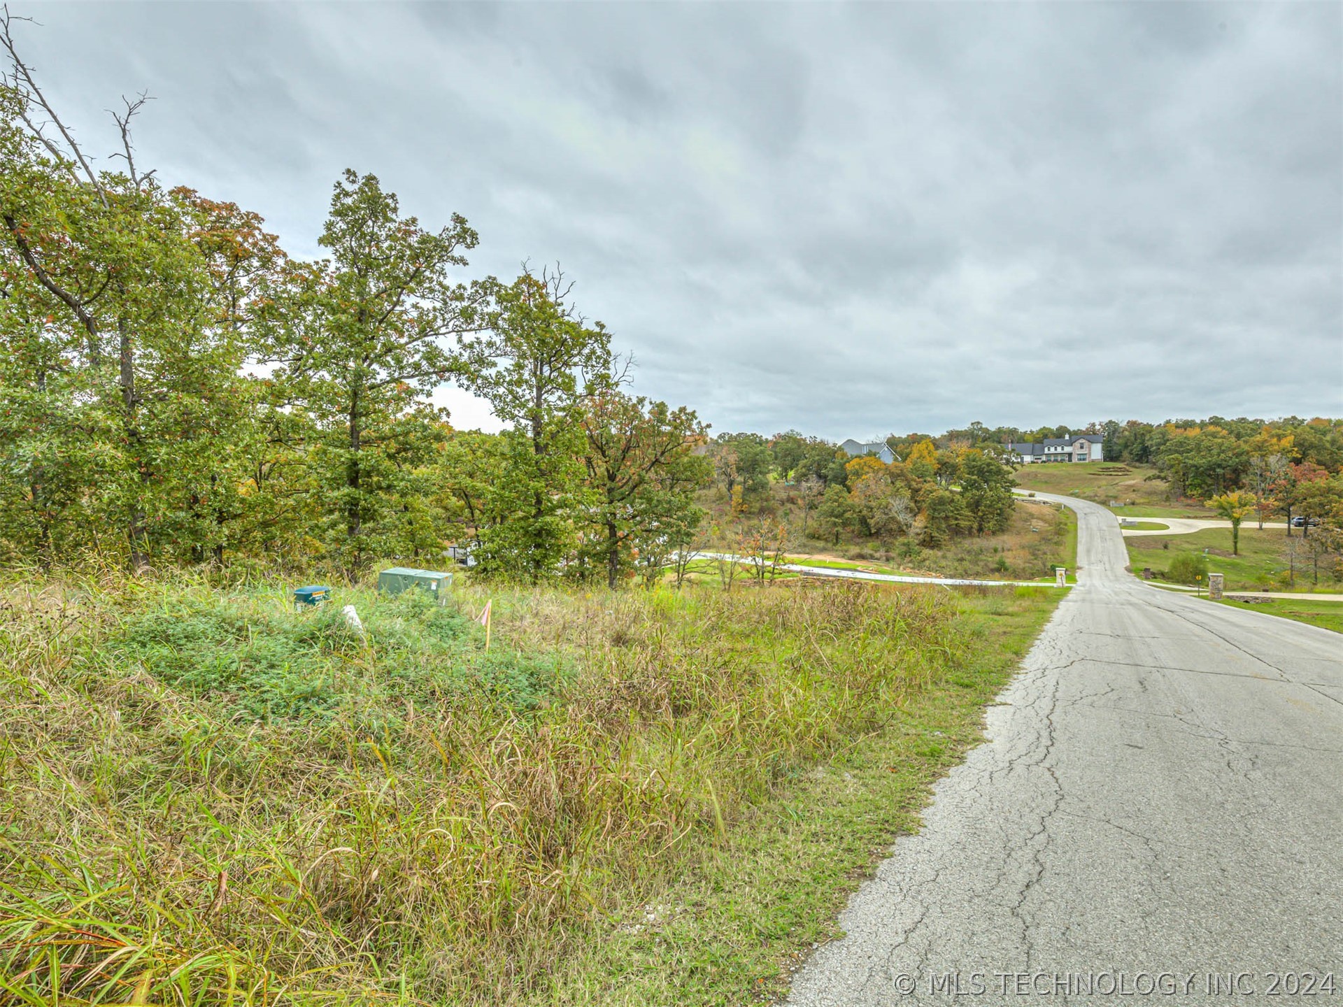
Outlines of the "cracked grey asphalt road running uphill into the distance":
{"type": "Polygon", "coordinates": [[[1078,587],[788,1003],[1343,1006],[1343,636],[1147,587],[1053,499],[1078,587]]]}

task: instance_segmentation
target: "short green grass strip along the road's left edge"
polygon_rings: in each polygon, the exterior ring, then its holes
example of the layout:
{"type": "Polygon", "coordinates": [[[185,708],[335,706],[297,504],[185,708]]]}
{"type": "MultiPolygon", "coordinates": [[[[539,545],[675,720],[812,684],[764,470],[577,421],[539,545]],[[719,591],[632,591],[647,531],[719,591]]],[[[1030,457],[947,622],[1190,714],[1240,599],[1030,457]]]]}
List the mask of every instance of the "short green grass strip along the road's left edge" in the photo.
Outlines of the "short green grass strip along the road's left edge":
{"type": "MultiPolygon", "coordinates": [[[[945,593],[945,592],[943,592],[945,593]]],[[[1064,592],[968,588],[952,597],[983,644],[888,724],[782,787],[693,870],[635,906],[556,976],[549,1002],[622,1007],[771,1003],[890,839],[919,827],[928,785],[980,738],[983,708],[1064,592]],[[997,651],[997,653],[994,653],[997,651]],[[592,976],[602,976],[594,981],[592,976]]]]}

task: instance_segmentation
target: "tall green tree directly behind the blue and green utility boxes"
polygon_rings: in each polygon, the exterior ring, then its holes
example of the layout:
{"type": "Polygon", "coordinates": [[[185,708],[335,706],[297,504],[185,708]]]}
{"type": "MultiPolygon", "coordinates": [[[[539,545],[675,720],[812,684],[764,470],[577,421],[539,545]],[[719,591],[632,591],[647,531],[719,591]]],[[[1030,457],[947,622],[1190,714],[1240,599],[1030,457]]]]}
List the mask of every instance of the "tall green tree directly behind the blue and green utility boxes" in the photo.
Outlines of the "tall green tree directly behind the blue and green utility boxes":
{"type": "Polygon", "coordinates": [[[449,340],[482,324],[486,285],[451,279],[475,232],[454,216],[426,231],[372,175],[346,171],[320,243],[267,299],[277,388],[313,424],[308,461],[324,538],[351,576],[389,545],[396,498],[441,430],[427,393],[463,368],[449,340]]]}

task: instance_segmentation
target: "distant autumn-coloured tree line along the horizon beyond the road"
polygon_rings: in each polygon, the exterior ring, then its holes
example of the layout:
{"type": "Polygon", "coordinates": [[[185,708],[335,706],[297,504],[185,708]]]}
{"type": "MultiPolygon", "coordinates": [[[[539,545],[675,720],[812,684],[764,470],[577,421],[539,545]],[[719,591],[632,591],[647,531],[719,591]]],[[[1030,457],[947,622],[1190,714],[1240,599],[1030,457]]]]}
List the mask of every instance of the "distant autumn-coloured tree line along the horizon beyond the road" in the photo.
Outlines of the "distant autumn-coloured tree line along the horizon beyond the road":
{"type": "Polygon", "coordinates": [[[1288,537],[1317,538],[1312,555],[1343,553],[1343,420],[1336,419],[1104,420],[1081,430],[971,423],[936,436],[886,436],[897,458],[889,465],[850,458],[795,430],[772,438],[723,434],[709,452],[733,513],[767,509],[774,481],[792,489],[804,533],[810,528],[835,544],[853,534],[936,546],[1007,526],[1014,483],[1007,444],[1076,432],[1101,435],[1107,461],[1152,466],[1174,497],[1203,501],[1230,520],[1233,550],[1242,521],[1262,526],[1281,518],[1288,537]]]}

